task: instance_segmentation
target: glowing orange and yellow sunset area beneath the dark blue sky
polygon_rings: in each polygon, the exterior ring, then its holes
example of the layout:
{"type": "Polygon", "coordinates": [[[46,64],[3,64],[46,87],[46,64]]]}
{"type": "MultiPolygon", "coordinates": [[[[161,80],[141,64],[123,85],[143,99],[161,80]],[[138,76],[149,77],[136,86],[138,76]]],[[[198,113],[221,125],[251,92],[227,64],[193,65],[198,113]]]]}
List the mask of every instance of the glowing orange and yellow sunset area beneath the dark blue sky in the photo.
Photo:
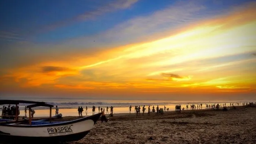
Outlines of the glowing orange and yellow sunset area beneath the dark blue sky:
{"type": "MultiPolygon", "coordinates": [[[[127,2],[127,9],[139,2],[127,2]]],[[[172,5],[59,42],[11,41],[1,30],[1,96],[255,96],[256,3],[201,18],[189,13],[210,12],[208,5],[172,5]],[[178,12],[187,6],[191,12],[178,12]],[[172,16],[193,21],[173,24],[172,16]]]]}

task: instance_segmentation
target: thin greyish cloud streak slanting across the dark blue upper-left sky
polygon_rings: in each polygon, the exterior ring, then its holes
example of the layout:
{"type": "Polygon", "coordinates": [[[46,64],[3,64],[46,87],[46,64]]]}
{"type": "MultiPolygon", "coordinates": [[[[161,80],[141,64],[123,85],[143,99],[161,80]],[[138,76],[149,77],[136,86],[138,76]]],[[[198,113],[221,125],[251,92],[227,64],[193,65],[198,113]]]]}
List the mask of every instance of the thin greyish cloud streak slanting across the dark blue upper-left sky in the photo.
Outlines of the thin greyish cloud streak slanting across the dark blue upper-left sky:
{"type": "Polygon", "coordinates": [[[0,31],[0,40],[32,40],[38,34],[47,33],[49,31],[56,30],[57,28],[70,26],[78,22],[97,19],[97,17],[106,13],[115,12],[122,9],[128,9],[133,4],[137,3],[137,1],[138,0],[81,1],[81,3],[87,3],[85,5],[87,5],[89,8],[88,9],[87,7],[85,7],[83,13],[76,14],[73,17],[68,17],[66,19],[58,19],[57,21],[49,24],[40,25],[36,28],[32,27],[31,29],[22,29],[19,30],[19,34],[0,31]]]}

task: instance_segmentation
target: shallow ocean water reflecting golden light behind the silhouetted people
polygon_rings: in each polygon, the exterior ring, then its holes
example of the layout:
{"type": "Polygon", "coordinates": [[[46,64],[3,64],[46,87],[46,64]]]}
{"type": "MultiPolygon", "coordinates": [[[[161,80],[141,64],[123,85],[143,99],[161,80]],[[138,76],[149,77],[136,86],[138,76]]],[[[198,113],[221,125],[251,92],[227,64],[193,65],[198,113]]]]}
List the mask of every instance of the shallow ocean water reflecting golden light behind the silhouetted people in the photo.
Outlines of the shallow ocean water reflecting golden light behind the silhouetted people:
{"type": "MultiPolygon", "coordinates": [[[[6,98],[0,98],[6,99],[6,98]]],[[[247,101],[153,101],[153,100],[93,100],[93,99],[84,99],[84,98],[8,98],[13,100],[32,100],[32,101],[38,101],[38,102],[47,102],[48,104],[58,105],[59,113],[62,114],[62,116],[78,116],[78,107],[81,106],[84,108],[83,115],[91,115],[92,114],[92,106],[94,105],[96,107],[96,113],[98,112],[98,107],[105,108],[109,107],[110,112],[110,106],[114,107],[114,114],[115,113],[129,113],[129,106],[132,105],[132,113],[134,113],[134,106],[140,105],[141,112],[142,107],[145,105],[145,108],[148,108],[150,105],[151,109],[153,105],[159,105],[159,108],[169,108],[169,111],[175,111],[175,105],[181,105],[181,108],[186,109],[186,105],[189,104],[195,104],[197,108],[197,104],[202,104],[202,109],[206,108],[206,104],[225,104],[227,106],[230,106],[230,103],[242,103],[247,101]],[[88,112],[85,112],[85,107],[88,107],[88,112]]],[[[249,102],[249,101],[248,101],[249,102]]],[[[19,104],[20,108],[20,116],[25,116],[24,108],[25,105],[28,104],[19,104]]],[[[5,105],[7,106],[7,104],[5,105]]],[[[3,105],[0,105],[0,107],[3,107],[3,105]]],[[[36,113],[35,117],[45,117],[49,116],[49,108],[47,107],[36,107],[34,108],[36,113]]],[[[146,110],[147,112],[147,110],[146,110]]],[[[55,108],[52,110],[52,114],[55,115],[55,108]]]]}

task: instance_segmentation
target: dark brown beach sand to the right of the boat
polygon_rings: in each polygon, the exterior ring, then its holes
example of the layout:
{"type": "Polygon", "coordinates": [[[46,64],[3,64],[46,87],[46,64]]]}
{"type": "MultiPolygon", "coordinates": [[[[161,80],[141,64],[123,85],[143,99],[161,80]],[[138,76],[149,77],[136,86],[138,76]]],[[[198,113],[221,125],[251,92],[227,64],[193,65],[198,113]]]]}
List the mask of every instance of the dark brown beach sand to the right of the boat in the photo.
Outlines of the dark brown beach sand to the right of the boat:
{"type": "MultiPolygon", "coordinates": [[[[64,117],[71,120],[77,117],[64,117]]],[[[85,138],[67,144],[212,144],[256,143],[256,108],[230,111],[165,112],[162,116],[114,114],[98,121],[85,138]]]]}

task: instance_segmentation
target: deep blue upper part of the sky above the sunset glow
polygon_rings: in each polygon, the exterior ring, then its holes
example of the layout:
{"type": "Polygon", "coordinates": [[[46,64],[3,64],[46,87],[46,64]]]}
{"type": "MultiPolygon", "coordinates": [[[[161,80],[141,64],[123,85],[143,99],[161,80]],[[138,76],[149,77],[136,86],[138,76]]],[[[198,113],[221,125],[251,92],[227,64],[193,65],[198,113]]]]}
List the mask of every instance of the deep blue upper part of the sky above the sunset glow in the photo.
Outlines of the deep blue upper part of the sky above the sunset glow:
{"type": "MultiPolygon", "coordinates": [[[[205,8],[194,11],[193,17],[190,20],[189,18],[184,18],[183,22],[185,24],[187,21],[191,22],[192,19],[207,18],[245,2],[246,0],[193,1],[198,6],[204,6],[205,8]]],[[[5,32],[1,34],[1,43],[9,43],[16,40],[35,43],[58,43],[76,37],[96,35],[130,19],[151,15],[160,10],[168,9],[169,6],[176,6],[177,3],[186,4],[191,3],[191,1],[1,1],[0,31],[1,33],[5,32]],[[124,4],[128,6],[124,7],[124,4]],[[83,15],[87,15],[87,17],[81,18],[83,15]],[[8,37],[11,39],[8,39],[8,37]]],[[[186,9],[181,10],[179,13],[185,13],[185,11],[186,9]]],[[[180,25],[181,23],[182,21],[178,24],[180,25]]],[[[168,23],[168,25],[177,26],[177,23],[168,23]]],[[[166,23],[159,24],[159,27],[165,30],[166,23]]],[[[150,30],[149,34],[156,31],[158,29],[154,27],[154,30],[150,30]]],[[[113,41],[113,39],[106,41],[113,41]]]]}

